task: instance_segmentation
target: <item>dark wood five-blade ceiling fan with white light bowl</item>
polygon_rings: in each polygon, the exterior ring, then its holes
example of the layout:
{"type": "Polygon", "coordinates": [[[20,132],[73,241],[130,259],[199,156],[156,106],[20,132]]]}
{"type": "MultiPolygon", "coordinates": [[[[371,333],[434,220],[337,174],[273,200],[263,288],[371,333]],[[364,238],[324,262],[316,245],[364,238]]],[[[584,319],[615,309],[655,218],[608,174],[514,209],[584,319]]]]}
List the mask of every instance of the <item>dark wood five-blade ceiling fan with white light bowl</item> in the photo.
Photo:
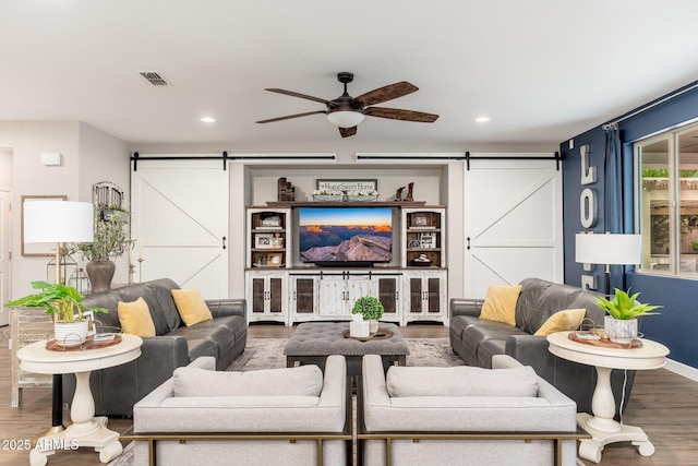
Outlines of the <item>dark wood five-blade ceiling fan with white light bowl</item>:
{"type": "Polygon", "coordinates": [[[370,117],[388,118],[390,120],[419,121],[423,123],[433,123],[438,118],[438,115],[424,113],[422,111],[402,110],[399,108],[370,107],[372,105],[393,100],[395,98],[402,97],[404,95],[408,95],[416,91],[419,91],[419,87],[408,83],[407,81],[400,81],[399,83],[378,87],[377,89],[361,94],[359,97],[351,97],[347,92],[347,84],[353,81],[353,73],[349,73],[346,71],[338,73],[337,81],[345,85],[345,93],[333,100],[326,100],[324,98],[313,97],[311,95],[279,88],[264,89],[273,93],[290,95],[292,97],[320,101],[322,104],[325,104],[327,106],[327,109],[288,115],[286,117],[270,118],[268,120],[261,120],[256,122],[270,123],[273,121],[289,120],[291,118],[306,117],[309,115],[325,113],[327,115],[327,119],[339,128],[339,134],[341,134],[342,138],[347,138],[357,134],[357,124],[363,121],[363,117],[366,115],[370,117]]]}

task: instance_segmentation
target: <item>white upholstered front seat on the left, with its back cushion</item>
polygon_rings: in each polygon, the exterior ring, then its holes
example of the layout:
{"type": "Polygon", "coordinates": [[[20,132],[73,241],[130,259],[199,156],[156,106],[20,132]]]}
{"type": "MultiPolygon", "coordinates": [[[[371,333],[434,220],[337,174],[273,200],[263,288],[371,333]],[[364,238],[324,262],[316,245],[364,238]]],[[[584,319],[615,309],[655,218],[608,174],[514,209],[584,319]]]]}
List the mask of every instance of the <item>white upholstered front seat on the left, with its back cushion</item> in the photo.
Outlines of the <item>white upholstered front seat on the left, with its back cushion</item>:
{"type": "MultiPolygon", "coordinates": [[[[349,397],[350,399],[350,397],[349,397]]],[[[316,366],[249,372],[215,372],[202,357],[136,403],[136,466],[345,465],[350,458],[344,356],[316,366]],[[318,441],[320,439],[320,441],[318,441]],[[155,447],[148,451],[148,443],[155,447]],[[183,440],[183,441],[182,441],[183,440]]]]}

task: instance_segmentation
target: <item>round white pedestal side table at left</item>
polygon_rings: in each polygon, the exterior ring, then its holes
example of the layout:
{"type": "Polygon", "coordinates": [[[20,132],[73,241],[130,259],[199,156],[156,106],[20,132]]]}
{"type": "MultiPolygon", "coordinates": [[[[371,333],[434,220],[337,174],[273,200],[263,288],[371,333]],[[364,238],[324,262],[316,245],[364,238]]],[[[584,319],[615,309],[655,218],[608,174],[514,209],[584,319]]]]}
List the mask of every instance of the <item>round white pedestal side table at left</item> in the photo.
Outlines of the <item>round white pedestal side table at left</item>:
{"type": "Polygon", "coordinates": [[[89,389],[93,370],[110,368],[141,356],[143,340],[134,335],[121,335],[116,345],[95,349],[53,351],[47,340],[34,343],[17,351],[23,370],[46,374],[75,374],[75,395],[70,408],[72,423],[63,431],[39,438],[29,453],[32,466],[44,466],[47,456],[57,449],[94,447],[99,461],[108,463],[122,452],[119,433],[107,429],[107,417],[95,417],[95,398],[89,389]]]}

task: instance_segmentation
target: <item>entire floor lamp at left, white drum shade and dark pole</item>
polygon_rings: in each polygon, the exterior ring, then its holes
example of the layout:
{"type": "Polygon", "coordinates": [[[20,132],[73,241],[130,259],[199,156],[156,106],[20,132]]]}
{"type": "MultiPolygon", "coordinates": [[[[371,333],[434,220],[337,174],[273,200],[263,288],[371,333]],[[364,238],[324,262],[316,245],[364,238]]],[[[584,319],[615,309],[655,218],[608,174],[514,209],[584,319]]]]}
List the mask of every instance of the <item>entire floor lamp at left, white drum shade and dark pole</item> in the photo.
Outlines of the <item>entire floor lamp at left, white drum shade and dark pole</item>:
{"type": "MultiPolygon", "coordinates": [[[[24,204],[24,242],[56,243],[56,283],[61,283],[61,243],[92,242],[94,208],[89,202],[32,201],[24,204]]],[[[63,377],[53,375],[52,422],[63,430],[63,377]]]]}

